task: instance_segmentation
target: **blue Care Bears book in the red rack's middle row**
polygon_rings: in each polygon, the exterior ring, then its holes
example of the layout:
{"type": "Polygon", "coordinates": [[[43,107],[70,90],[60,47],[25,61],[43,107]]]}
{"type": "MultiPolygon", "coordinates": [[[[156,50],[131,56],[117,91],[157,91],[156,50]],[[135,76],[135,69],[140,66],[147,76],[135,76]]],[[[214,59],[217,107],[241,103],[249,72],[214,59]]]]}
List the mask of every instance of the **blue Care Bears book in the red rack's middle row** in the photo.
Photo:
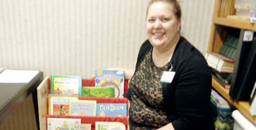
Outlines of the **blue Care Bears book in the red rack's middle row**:
{"type": "Polygon", "coordinates": [[[96,116],[127,116],[126,103],[97,103],[96,116]]]}

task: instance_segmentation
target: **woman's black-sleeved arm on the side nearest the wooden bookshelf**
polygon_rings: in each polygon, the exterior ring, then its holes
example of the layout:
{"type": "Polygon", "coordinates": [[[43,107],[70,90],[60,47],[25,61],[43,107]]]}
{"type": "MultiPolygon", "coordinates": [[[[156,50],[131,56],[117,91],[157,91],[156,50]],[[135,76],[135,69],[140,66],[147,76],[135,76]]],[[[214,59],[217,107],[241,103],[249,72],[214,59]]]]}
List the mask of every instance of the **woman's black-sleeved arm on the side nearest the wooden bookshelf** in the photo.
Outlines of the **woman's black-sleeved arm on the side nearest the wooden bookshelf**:
{"type": "Polygon", "coordinates": [[[193,55],[176,71],[179,79],[175,86],[177,119],[172,120],[174,129],[209,128],[212,75],[203,58],[193,55]]]}

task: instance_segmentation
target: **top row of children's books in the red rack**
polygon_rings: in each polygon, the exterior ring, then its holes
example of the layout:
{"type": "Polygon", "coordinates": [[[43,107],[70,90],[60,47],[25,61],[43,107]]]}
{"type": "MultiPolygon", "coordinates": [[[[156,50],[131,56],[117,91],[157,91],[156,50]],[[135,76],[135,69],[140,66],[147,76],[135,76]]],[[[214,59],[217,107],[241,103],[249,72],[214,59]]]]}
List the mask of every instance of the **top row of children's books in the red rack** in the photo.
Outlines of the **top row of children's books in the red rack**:
{"type": "Polygon", "coordinates": [[[124,71],[96,70],[95,86],[83,87],[82,76],[51,75],[50,94],[122,98],[124,94],[124,80],[124,71]]]}

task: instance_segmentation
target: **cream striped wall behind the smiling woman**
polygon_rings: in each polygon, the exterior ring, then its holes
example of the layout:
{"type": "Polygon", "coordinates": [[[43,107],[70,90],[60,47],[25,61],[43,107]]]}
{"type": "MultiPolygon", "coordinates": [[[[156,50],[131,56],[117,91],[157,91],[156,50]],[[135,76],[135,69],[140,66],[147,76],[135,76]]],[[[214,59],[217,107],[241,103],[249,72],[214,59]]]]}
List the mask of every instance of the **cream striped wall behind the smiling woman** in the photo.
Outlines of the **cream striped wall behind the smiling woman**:
{"type": "MultiPolygon", "coordinates": [[[[0,0],[0,68],[91,78],[135,68],[150,0],[0,0]]],[[[213,0],[181,0],[181,35],[204,54],[213,0]]]]}

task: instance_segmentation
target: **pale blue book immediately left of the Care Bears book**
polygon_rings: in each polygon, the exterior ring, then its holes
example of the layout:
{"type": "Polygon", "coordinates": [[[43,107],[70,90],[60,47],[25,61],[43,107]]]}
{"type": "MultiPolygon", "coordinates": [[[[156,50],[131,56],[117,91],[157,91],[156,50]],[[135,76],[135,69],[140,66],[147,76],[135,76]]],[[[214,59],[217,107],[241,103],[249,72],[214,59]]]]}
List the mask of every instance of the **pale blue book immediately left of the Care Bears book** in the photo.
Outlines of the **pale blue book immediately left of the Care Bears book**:
{"type": "Polygon", "coordinates": [[[80,116],[96,116],[96,101],[69,101],[69,114],[80,116]]]}

